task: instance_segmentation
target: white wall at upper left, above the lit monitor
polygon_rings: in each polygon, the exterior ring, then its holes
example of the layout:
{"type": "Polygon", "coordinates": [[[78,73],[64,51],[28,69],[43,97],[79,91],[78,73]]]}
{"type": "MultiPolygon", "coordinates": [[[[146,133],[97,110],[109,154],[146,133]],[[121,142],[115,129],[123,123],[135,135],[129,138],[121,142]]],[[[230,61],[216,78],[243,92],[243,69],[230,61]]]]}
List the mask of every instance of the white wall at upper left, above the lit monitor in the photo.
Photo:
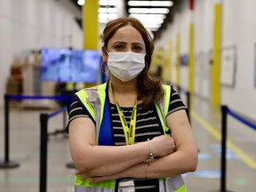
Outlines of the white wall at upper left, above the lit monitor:
{"type": "Polygon", "coordinates": [[[68,0],[0,0],[0,107],[14,58],[44,46],[83,47],[79,14],[68,0]]]}

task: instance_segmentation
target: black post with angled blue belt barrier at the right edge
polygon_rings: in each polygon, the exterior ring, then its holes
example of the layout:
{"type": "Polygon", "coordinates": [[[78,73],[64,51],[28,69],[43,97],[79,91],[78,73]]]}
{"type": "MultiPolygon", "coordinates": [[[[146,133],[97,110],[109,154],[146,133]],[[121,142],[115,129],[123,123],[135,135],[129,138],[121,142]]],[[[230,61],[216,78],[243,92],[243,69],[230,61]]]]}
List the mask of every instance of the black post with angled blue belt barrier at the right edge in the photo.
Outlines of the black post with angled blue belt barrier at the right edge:
{"type": "Polygon", "coordinates": [[[228,192],[226,189],[226,151],[227,151],[227,116],[233,116],[236,120],[240,121],[241,123],[251,127],[253,130],[256,131],[256,124],[244,119],[243,117],[237,115],[234,111],[230,110],[227,106],[221,106],[221,177],[220,177],[220,191],[221,192],[228,192]]]}

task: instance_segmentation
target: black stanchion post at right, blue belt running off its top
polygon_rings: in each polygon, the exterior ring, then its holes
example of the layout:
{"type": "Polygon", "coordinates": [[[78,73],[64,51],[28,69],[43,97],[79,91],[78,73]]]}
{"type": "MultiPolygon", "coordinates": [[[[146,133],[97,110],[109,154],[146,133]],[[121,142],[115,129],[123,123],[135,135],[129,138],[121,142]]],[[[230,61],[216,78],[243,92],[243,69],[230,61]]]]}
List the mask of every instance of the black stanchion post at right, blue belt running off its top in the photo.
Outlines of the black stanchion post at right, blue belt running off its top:
{"type": "Polygon", "coordinates": [[[221,177],[220,191],[226,192],[227,106],[221,106],[221,177]]]}

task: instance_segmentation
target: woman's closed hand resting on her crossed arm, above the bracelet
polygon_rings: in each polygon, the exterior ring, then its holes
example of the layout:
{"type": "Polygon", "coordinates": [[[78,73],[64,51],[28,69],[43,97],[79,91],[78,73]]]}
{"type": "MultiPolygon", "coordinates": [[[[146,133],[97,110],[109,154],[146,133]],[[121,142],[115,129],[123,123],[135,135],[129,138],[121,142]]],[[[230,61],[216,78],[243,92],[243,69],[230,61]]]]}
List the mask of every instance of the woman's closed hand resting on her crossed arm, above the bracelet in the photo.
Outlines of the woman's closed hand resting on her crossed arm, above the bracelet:
{"type": "Polygon", "coordinates": [[[175,142],[171,136],[160,135],[148,142],[154,156],[167,156],[175,151],[175,142]]]}

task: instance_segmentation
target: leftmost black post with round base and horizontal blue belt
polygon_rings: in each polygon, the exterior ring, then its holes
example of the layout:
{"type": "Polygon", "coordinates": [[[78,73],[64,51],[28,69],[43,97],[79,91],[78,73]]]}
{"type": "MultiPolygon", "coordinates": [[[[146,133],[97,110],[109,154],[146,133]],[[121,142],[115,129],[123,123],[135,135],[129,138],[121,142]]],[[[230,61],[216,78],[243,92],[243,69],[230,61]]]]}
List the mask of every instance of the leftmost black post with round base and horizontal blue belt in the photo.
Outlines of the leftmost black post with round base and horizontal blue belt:
{"type": "MultiPolygon", "coordinates": [[[[4,95],[4,160],[0,161],[0,169],[17,168],[18,162],[10,159],[10,100],[68,100],[68,96],[31,96],[31,95],[4,95]]],[[[65,115],[65,114],[64,114],[65,115]]],[[[65,118],[66,119],[66,118],[65,118]]],[[[63,121],[64,122],[64,121],[63,121]]],[[[56,134],[56,133],[53,133],[56,134]]]]}

